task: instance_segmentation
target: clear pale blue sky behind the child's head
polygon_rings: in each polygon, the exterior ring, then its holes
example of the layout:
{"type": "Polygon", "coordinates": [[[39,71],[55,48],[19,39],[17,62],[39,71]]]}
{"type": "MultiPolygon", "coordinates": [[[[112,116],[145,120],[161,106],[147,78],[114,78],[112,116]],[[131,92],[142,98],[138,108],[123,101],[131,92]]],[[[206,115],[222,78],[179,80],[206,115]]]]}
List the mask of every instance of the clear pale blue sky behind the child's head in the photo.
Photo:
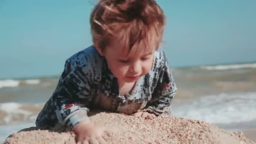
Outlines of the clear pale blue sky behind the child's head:
{"type": "MultiPolygon", "coordinates": [[[[0,0],[0,79],[59,75],[91,45],[95,0],[0,0]]],[[[256,61],[255,0],[157,0],[171,67],[256,61]]]]}

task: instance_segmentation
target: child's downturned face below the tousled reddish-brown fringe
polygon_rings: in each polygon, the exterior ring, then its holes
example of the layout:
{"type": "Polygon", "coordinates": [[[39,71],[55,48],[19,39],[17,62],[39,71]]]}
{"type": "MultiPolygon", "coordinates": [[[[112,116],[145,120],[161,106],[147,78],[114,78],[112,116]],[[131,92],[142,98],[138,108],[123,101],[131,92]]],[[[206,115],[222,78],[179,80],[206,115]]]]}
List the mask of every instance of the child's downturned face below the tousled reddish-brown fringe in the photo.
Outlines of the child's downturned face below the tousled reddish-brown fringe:
{"type": "Polygon", "coordinates": [[[131,83],[149,72],[154,52],[155,48],[133,48],[129,52],[128,48],[120,47],[120,43],[115,41],[105,48],[102,55],[119,81],[131,83]]]}

